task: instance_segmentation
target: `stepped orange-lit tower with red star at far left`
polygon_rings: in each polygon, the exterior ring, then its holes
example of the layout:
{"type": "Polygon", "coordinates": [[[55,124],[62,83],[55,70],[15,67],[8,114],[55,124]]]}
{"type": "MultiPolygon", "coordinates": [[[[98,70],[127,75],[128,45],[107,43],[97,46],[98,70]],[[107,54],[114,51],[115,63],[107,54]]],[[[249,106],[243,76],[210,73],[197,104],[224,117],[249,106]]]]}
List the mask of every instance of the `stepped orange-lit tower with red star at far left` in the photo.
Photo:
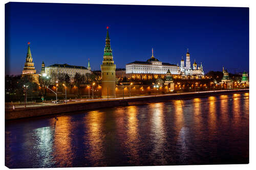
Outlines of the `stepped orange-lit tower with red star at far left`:
{"type": "Polygon", "coordinates": [[[23,67],[21,77],[28,76],[29,78],[32,79],[32,82],[39,84],[39,79],[38,79],[39,75],[36,74],[36,69],[34,67],[33,58],[32,58],[29,44],[30,44],[30,42],[28,42],[27,58],[26,58],[25,66],[23,67]]]}

